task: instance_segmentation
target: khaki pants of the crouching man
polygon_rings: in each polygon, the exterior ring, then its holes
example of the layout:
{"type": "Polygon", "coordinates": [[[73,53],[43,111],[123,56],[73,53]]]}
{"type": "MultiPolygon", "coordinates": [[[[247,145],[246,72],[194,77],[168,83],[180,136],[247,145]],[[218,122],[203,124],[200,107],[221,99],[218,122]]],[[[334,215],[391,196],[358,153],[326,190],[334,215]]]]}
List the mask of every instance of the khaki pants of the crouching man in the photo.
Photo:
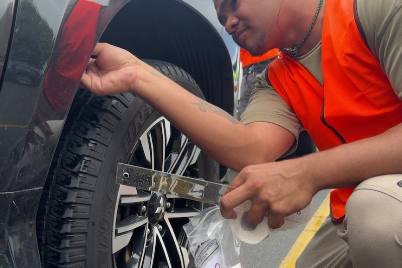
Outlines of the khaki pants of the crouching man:
{"type": "Polygon", "coordinates": [[[400,181],[402,174],[392,174],[359,184],[346,204],[343,224],[328,217],[296,268],[402,267],[400,181]]]}

